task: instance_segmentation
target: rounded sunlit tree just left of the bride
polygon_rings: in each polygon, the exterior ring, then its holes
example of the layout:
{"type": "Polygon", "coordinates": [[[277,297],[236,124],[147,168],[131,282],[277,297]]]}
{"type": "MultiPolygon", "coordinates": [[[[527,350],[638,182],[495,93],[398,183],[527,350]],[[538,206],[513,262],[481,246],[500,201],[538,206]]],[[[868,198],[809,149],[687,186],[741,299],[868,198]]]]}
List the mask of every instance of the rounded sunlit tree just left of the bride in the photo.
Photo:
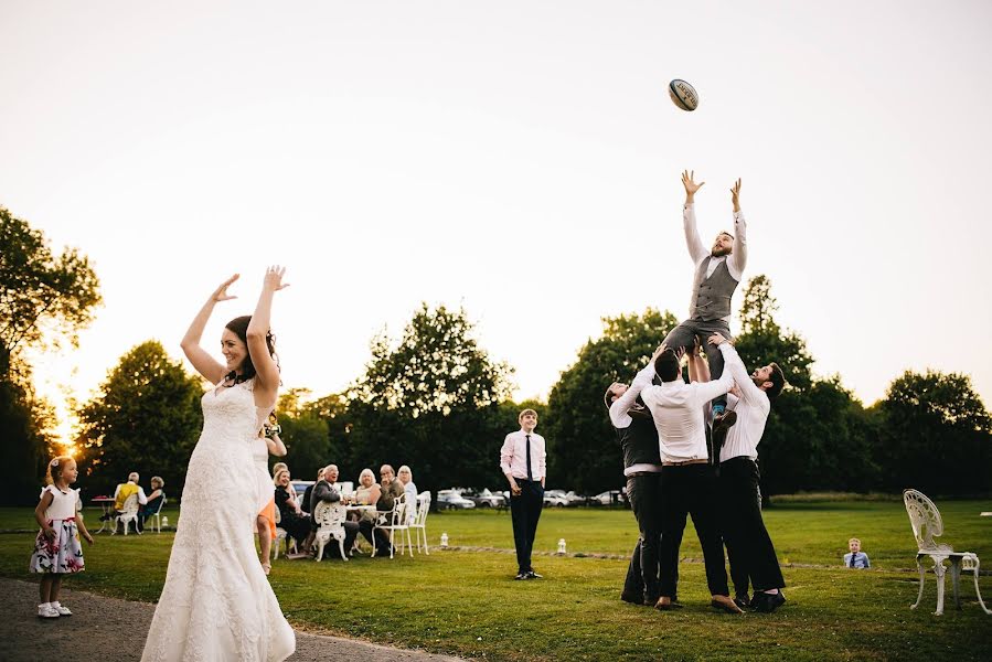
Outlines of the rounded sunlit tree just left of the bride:
{"type": "Polygon", "coordinates": [[[200,436],[203,382],[173,361],[158,341],[146,341],[107,375],[99,394],[77,415],[87,481],[113,490],[131,471],[161,476],[181,492],[186,465],[200,436]]]}

